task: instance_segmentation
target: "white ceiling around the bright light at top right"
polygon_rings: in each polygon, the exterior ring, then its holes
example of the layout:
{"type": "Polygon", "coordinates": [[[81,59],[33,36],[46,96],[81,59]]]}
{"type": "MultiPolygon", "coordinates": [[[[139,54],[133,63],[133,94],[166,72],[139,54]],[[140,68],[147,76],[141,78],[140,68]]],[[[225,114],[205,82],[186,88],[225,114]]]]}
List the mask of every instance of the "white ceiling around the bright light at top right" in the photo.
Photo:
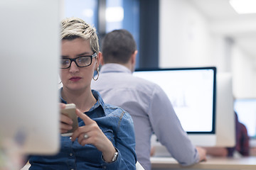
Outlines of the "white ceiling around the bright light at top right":
{"type": "Polygon", "coordinates": [[[256,13],[238,14],[229,0],[188,1],[206,16],[213,33],[233,38],[242,50],[256,60],[256,13]]]}

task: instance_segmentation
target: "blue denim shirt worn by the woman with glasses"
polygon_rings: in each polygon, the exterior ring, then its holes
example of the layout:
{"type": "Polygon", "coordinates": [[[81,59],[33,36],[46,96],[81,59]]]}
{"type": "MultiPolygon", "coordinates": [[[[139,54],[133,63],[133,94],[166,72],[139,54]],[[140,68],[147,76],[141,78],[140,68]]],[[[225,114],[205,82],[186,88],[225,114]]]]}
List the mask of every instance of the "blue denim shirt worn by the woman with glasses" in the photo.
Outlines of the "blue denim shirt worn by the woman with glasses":
{"type": "MultiPolygon", "coordinates": [[[[78,139],[72,142],[70,137],[60,136],[60,152],[53,156],[31,156],[29,169],[136,169],[137,156],[131,116],[122,108],[105,104],[97,91],[92,90],[92,94],[97,103],[85,114],[97,122],[117,149],[117,160],[107,163],[102,159],[102,152],[94,145],[81,146],[78,139]]],[[[66,103],[61,97],[60,100],[66,103]]],[[[78,124],[85,125],[81,118],[78,118],[78,124]]]]}

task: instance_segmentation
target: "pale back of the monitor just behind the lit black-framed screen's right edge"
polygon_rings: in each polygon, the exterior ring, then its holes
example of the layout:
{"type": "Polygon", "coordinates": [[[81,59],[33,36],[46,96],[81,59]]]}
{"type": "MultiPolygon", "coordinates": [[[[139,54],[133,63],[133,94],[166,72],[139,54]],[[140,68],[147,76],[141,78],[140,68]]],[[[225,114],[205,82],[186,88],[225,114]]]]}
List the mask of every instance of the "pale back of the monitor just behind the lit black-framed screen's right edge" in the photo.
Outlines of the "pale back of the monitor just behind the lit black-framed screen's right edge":
{"type": "Polygon", "coordinates": [[[218,72],[216,91],[216,147],[234,147],[235,112],[230,73],[218,72]]]}

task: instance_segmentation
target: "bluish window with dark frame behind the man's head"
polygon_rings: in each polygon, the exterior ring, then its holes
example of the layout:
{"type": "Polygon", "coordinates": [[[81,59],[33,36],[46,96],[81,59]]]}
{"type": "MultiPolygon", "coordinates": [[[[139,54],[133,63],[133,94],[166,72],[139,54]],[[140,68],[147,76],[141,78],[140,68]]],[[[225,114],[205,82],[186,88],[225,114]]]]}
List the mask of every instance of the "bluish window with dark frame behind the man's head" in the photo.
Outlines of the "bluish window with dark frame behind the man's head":
{"type": "Polygon", "coordinates": [[[65,0],[65,17],[95,26],[100,40],[114,29],[126,29],[137,42],[136,68],[158,67],[158,0],[65,0]]]}

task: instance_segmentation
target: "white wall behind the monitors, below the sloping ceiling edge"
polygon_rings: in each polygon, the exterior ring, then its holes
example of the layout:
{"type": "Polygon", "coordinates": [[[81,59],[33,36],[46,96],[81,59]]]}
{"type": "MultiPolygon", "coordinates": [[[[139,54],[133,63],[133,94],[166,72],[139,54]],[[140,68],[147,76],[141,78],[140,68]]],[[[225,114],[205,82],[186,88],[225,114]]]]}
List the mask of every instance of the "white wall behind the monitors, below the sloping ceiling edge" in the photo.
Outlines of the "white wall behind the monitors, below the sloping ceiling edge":
{"type": "Polygon", "coordinates": [[[159,8],[159,67],[215,66],[233,74],[235,97],[256,98],[253,57],[214,31],[190,1],[160,0],[159,8]]]}

